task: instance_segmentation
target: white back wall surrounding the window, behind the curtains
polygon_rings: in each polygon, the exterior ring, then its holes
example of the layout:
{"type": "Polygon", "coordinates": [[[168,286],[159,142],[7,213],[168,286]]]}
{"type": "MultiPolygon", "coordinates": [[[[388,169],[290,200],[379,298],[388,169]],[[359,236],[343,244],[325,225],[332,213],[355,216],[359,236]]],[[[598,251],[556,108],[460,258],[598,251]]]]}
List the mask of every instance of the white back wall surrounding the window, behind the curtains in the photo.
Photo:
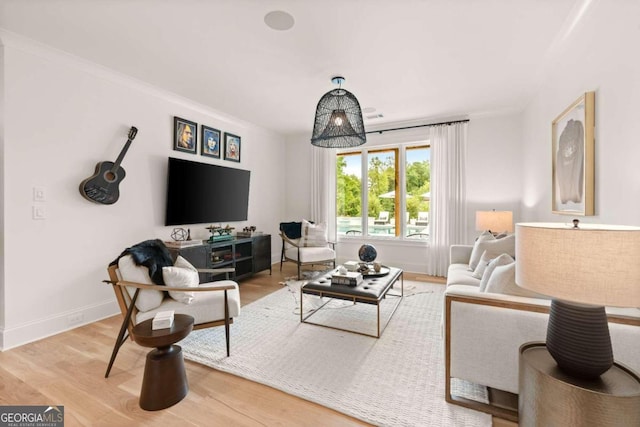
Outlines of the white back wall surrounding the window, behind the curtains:
{"type": "MultiPolygon", "coordinates": [[[[384,128],[402,127],[389,124],[384,128]]],[[[475,235],[476,210],[512,210],[514,221],[519,218],[521,202],[521,122],[519,114],[499,117],[472,118],[468,132],[467,197],[468,240],[475,235]]],[[[417,128],[383,134],[367,135],[367,147],[424,141],[427,130],[417,128]]],[[[310,135],[300,134],[287,139],[287,218],[308,218],[310,213],[310,135]]],[[[285,219],[285,218],[283,218],[285,219]]],[[[385,240],[383,238],[342,238],[336,247],[338,262],[357,259],[363,243],[376,247],[378,259],[406,271],[426,272],[428,244],[425,242],[385,240]]]]}

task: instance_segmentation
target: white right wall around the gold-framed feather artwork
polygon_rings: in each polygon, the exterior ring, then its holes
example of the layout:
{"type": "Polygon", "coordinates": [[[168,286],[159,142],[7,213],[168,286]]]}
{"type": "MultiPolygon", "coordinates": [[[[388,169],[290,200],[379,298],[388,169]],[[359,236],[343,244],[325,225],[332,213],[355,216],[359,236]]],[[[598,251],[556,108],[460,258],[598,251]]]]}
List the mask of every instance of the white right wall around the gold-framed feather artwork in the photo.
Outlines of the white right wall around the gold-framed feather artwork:
{"type": "Polygon", "coordinates": [[[640,224],[640,2],[594,1],[560,40],[523,118],[523,218],[570,222],[551,213],[551,122],[587,91],[596,93],[595,216],[640,224]]]}

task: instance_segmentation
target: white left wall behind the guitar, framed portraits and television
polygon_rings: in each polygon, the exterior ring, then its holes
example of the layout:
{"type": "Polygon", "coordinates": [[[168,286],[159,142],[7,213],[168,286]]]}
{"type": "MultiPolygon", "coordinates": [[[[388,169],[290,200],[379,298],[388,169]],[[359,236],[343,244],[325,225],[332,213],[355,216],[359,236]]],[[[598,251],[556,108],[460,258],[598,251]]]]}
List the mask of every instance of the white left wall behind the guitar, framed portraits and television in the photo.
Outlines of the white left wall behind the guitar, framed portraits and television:
{"type": "MultiPolygon", "coordinates": [[[[164,227],[167,157],[251,170],[249,220],[273,234],[284,212],[284,139],[110,70],[0,33],[4,42],[4,290],[1,348],[11,348],[119,312],[107,264],[127,246],[169,240],[164,227]],[[172,150],[173,116],[242,137],[240,164],[172,150]],[[111,206],[85,200],[80,182],[114,161],[130,126],[139,129],[123,161],[127,176],[111,206]],[[34,186],[47,200],[34,202],[34,186]],[[47,218],[32,219],[32,207],[47,218]]],[[[185,76],[188,78],[188,76],[185,76]]],[[[198,130],[200,133],[200,130],[198,130]]],[[[200,135],[199,135],[200,136],[200,135]]],[[[200,138],[199,138],[200,139],[200,138]]],[[[224,183],[218,185],[224,186],[224,183]]],[[[208,224],[191,226],[207,238],[208,224]]]]}

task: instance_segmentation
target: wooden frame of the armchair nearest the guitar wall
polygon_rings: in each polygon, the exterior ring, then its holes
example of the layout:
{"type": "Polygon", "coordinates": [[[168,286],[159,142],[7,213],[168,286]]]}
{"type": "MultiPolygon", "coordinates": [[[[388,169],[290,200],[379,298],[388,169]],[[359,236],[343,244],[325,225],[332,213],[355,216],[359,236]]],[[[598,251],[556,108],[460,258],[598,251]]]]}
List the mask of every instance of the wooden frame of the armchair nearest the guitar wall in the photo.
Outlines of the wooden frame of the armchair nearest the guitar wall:
{"type": "MultiPolygon", "coordinates": [[[[109,280],[104,280],[103,282],[109,283],[113,286],[113,291],[116,294],[116,299],[118,301],[118,306],[122,311],[123,319],[122,325],[120,326],[120,332],[118,333],[118,338],[116,340],[115,345],[113,346],[113,351],[111,353],[111,359],[109,360],[109,366],[107,367],[107,371],[104,375],[105,378],[109,377],[109,373],[111,372],[111,368],[113,367],[113,363],[116,360],[116,356],[118,355],[118,351],[120,347],[125,343],[127,338],[131,338],[133,340],[132,331],[135,326],[135,316],[138,314],[138,309],[135,306],[136,300],[138,299],[138,294],[141,289],[151,289],[157,291],[173,291],[173,292],[212,292],[212,291],[224,291],[224,319],[214,320],[212,322],[199,323],[193,325],[193,329],[204,329],[210,328],[213,326],[222,326],[225,328],[225,339],[227,344],[227,357],[230,354],[229,347],[229,325],[233,323],[233,319],[229,318],[229,303],[228,303],[228,295],[227,291],[234,289],[233,285],[220,284],[220,285],[210,285],[210,286],[199,286],[197,288],[174,288],[171,286],[160,286],[160,285],[148,285],[145,283],[136,283],[136,282],[127,282],[124,280],[120,280],[118,277],[118,266],[111,265],[109,266],[109,280]],[[133,297],[129,296],[125,287],[133,287],[136,288],[133,297]]],[[[233,273],[235,269],[233,268],[199,268],[199,273],[226,273],[227,279],[229,278],[229,273],[233,273]]]]}

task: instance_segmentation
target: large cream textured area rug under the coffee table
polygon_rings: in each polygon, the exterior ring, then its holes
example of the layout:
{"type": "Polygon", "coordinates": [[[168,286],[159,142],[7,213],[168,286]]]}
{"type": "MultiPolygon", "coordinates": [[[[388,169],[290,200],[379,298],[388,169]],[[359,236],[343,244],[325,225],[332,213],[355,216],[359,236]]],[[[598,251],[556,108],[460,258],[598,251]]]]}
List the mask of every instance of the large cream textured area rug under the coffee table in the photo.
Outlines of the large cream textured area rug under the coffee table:
{"type": "MultiPolygon", "coordinates": [[[[444,286],[405,281],[405,298],[376,339],[300,323],[301,283],[288,281],[242,308],[231,326],[230,357],[224,328],[210,328],[180,342],[185,358],[374,425],[491,425],[490,415],[445,402],[444,286]]],[[[385,300],[382,318],[394,303],[385,300]]],[[[319,298],[305,295],[305,312],[319,304],[319,298]]],[[[315,320],[375,330],[375,306],[338,301],[314,317],[321,314],[315,320]]],[[[487,402],[484,387],[453,387],[458,395],[487,402]]]]}

